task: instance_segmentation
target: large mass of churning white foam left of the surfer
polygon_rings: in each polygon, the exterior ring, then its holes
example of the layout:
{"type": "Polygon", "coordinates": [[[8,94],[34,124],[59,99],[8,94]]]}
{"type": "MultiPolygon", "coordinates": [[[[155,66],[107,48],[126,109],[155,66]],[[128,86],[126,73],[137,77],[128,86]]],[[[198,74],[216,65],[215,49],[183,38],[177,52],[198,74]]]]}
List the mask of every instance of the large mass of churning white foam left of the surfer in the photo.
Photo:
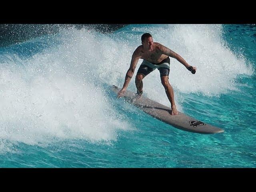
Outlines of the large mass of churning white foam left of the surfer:
{"type": "Polygon", "coordinates": [[[2,64],[6,67],[0,71],[1,138],[26,144],[44,144],[52,138],[108,142],[117,139],[118,129],[129,129],[98,84],[102,58],[91,46],[97,46],[96,40],[88,42],[86,37],[79,36],[76,44],[77,37],[68,36],[70,41],[58,48],[18,64],[2,64]]]}

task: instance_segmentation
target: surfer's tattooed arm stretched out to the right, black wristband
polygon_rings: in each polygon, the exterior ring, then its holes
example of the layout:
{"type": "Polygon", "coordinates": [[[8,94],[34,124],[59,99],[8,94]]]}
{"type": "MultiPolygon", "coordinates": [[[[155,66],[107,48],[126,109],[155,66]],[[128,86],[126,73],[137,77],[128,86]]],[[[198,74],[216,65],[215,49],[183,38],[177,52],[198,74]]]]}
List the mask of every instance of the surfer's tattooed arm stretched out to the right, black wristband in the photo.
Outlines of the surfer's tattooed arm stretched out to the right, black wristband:
{"type": "Polygon", "coordinates": [[[172,58],[178,60],[181,64],[183,64],[188,70],[190,70],[193,74],[196,73],[196,67],[190,66],[179,54],[170,50],[166,46],[159,44],[158,48],[162,51],[162,54],[168,55],[172,58]]]}

